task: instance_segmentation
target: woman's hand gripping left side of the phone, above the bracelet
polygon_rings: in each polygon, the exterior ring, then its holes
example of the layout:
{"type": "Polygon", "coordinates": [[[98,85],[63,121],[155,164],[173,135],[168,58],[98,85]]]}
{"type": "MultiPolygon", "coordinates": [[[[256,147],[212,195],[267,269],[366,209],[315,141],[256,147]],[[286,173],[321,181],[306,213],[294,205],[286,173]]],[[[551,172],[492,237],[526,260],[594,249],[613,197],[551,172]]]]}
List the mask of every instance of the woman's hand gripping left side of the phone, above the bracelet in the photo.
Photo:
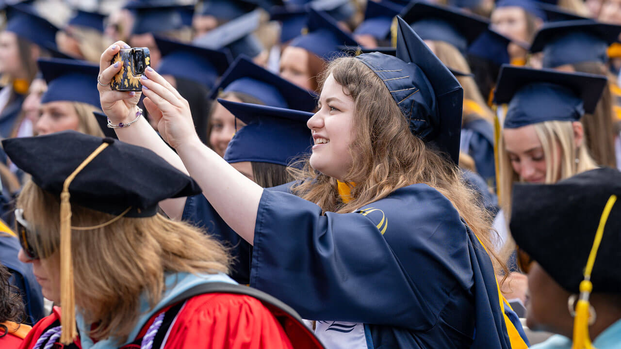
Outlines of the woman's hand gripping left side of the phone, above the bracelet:
{"type": "Polygon", "coordinates": [[[112,57],[119,53],[121,48],[129,48],[127,43],[117,41],[108,47],[99,58],[99,78],[97,89],[99,90],[99,100],[104,114],[111,120],[112,124],[119,122],[130,122],[135,119],[136,104],[140,100],[140,93],[127,91],[112,91],[110,82],[116,73],[120,71],[122,61],[110,64],[112,57]]]}

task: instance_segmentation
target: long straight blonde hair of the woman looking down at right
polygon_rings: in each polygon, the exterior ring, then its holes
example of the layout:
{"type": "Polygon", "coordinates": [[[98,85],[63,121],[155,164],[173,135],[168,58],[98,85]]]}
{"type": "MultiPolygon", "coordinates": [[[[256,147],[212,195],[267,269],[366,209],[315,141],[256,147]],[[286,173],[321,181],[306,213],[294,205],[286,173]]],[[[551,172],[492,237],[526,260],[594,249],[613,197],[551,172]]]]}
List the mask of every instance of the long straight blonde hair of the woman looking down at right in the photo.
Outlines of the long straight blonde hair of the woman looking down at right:
{"type": "MultiPolygon", "coordinates": [[[[537,137],[542,143],[543,154],[546,163],[545,183],[553,184],[560,179],[565,179],[574,174],[597,167],[586,142],[582,142],[578,147],[574,142],[574,129],[570,121],[545,121],[533,125],[537,137]],[[561,158],[558,158],[558,154],[561,158]]],[[[504,137],[498,142],[498,163],[499,163],[499,203],[505,215],[505,221],[510,222],[511,219],[511,198],[512,188],[515,182],[522,181],[519,174],[515,173],[509,154],[505,150],[504,137]]],[[[508,230],[508,227],[507,227],[508,230]]],[[[507,260],[511,253],[515,250],[515,242],[508,236],[507,241],[501,248],[501,257],[507,260]]]]}

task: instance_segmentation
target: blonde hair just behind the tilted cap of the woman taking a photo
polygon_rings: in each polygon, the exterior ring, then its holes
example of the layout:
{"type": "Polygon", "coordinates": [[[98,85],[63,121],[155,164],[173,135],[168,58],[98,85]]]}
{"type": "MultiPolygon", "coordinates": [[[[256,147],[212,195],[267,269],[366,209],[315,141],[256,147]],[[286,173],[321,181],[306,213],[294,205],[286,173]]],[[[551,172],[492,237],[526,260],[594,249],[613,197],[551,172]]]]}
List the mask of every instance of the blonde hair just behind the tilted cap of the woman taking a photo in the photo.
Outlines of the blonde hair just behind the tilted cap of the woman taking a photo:
{"type": "MultiPolygon", "coordinates": [[[[433,53],[435,53],[444,65],[451,69],[460,71],[461,73],[471,73],[470,66],[466,61],[466,58],[463,57],[461,52],[455,48],[455,46],[443,41],[432,41],[432,43],[434,47],[433,53]]],[[[460,82],[461,87],[464,89],[464,102],[467,103],[466,100],[473,101],[479,106],[476,111],[473,111],[471,108],[467,107],[463,109],[464,113],[461,119],[462,124],[474,119],[484,119],[490,124],[494,124],[494,112],[489,109],[487,102],[483,99],[483,96],[481,96],[481,92],[479,91],[479,87],[476,85],[474,78],[472,76],[456,76],[456,78],[460,82]]]]}

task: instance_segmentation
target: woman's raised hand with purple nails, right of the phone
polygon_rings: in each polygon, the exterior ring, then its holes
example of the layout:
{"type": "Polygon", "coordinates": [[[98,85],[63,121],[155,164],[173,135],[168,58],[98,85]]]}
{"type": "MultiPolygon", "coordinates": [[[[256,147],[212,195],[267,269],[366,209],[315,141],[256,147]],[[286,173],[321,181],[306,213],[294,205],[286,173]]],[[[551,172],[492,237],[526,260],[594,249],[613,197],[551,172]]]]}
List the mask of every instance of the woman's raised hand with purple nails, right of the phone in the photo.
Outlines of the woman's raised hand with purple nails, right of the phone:
{"type": "Polygon", "coordinates": [[[145,70],[141,82],[143,102],[161,137],[175,149],[194,141],[200,143],[188,101],[151,67],[145,70]]]}

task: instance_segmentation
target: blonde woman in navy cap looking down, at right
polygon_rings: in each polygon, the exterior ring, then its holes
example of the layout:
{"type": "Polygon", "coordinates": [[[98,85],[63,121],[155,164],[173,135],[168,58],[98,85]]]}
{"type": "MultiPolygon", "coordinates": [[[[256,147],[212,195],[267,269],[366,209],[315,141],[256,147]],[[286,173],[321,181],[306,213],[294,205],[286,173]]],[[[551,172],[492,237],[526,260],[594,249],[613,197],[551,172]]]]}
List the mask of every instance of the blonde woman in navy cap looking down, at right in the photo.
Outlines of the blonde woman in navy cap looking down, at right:
{"type": "Polygon", "coordinates": [[[514,251],[507,232],[514,183],[551,184],[596,168],[580,119],[594,111],[606,83],[601,75],[502,67],[494,98],[508,105],[497,145],[502,212],[494,227],[507,255],[514,251]]]}

